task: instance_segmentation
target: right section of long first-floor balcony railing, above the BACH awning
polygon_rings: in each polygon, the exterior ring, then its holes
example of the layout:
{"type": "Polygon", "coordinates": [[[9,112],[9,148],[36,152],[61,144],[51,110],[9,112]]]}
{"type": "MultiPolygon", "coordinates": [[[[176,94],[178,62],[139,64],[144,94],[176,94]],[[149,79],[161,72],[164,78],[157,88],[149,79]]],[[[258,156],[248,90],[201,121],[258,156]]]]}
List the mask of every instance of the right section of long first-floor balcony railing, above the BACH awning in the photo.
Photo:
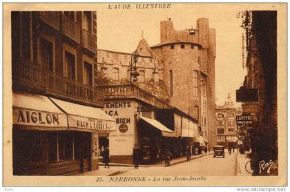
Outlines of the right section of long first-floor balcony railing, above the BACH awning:
{"type": "Polygon", "coordinates": [[[46,88],[48,93],[64,95],[66,97],[79,99],[82,102],[104,103],[104,94],[97,88],[79,83],[55,73],[47,73],[46,88]]]}

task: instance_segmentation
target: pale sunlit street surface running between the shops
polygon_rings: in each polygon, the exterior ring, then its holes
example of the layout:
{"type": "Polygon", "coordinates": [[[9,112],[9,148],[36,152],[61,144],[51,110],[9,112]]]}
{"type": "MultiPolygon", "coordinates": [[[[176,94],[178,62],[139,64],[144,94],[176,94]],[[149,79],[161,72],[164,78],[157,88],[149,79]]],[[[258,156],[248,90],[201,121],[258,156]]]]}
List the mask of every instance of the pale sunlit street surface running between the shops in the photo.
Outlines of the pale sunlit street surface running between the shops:
{"type": "MultiPolygon", "coordinates": [[[[99,166],[98,170],[77,173],[75,175],[96,175],[96,176],[184,176],[184,175],[204,175],[204,176],[234,176],[239,175],[237,165],[238,151],[231,153],[226,151],[226,157],[215,157],[206,155],[204,157],[191,160],[190,162],[181,162],[172,166],[151,166],[139,167],[133,166],[110,166],[110,169],[104,169],[99,166]]],[[[185,157],[184,157],[185,158],[185,157]]]]}

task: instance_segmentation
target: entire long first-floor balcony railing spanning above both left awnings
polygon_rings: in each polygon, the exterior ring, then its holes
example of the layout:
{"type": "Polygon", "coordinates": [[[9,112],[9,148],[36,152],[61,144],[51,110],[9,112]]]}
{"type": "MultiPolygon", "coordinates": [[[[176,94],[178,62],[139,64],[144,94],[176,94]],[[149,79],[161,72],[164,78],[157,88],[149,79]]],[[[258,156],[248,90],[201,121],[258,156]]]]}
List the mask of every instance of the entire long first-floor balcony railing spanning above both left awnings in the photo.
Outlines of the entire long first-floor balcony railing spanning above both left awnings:
{"type": "Polygon", "coordinates": [[[104,104],[104,93],[101,93],[98,88],[42,70],[41,66],[32,64],[30,61],[13,66],[12,84],[19,90],[29,88],[81,103],[104,104]]]}

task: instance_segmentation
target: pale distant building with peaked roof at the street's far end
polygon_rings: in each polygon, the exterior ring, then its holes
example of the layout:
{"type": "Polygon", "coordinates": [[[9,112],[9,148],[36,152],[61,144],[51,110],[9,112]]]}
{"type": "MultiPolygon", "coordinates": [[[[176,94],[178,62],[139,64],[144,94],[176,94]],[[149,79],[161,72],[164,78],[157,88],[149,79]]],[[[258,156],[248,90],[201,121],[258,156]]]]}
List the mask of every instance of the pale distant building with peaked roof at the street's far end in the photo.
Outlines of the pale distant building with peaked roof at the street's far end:
{"type": "Polygon", "coordinates": [[[215,113],[217,118],[217,144],[226,147],[237,147],[238,141],[238,128],[236,124],[236,116],[239,115],[241,110],[235,108],[231,95],[228,94],[226,102],[223,106],[216,106],[215,113]]]}

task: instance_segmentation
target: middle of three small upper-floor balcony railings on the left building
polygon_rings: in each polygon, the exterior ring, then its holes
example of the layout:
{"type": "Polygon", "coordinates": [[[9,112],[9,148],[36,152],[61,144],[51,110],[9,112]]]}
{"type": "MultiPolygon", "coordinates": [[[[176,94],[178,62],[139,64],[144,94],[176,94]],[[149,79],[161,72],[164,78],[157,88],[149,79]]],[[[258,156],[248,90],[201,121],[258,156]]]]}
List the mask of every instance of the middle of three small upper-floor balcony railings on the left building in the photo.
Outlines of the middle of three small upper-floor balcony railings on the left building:
{"type": "Polygon", "coordinates": [[[75,21],[68,19],[65,15],[63,17],[62,30],[64,35],[76,41],[78,44],[81,41],[81,30],[75,21]]]}

